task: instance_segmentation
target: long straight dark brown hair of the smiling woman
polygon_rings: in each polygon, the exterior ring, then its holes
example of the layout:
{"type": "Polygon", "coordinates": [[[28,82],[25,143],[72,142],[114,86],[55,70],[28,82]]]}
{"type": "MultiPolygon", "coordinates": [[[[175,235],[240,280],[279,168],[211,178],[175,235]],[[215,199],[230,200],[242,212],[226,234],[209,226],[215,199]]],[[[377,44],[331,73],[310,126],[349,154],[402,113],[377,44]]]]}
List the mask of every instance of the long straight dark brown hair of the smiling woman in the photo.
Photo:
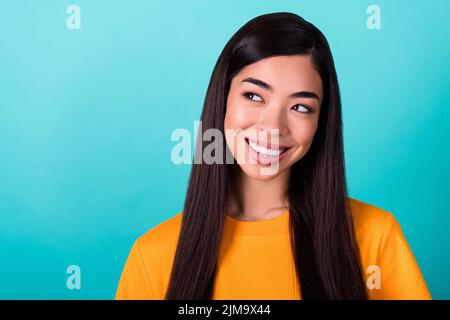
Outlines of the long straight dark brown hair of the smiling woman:
{"type": "MultiPolygon", "coordinates": [[[[224,133],[227,94],[245,66],[271,56],[310,55],[324,99],[306,155],[291,170],[290,238],[303,299],[367,299],[355,240],[344,168],[341,100],[333,57],[324,35],[296,14],[258,16],[236,32],[220,54],[209,82],[202,130],[224,133]]],[[[198,135],[200,137],[200,135],[198,135]]],[[[205,147],[196,141],[195,152],[205,147]]],[[[233,185],[226,164],[194,163],[165,299],[212,299],[224,215],[233,185]]]]}

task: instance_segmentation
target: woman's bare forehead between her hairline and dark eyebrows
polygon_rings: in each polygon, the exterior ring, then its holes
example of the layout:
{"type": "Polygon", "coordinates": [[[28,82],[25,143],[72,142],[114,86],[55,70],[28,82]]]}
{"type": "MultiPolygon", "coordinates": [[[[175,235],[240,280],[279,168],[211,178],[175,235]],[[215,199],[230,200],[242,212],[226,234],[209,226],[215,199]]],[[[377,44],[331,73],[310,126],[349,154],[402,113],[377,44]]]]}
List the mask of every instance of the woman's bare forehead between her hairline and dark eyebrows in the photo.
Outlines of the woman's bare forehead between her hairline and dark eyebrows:
{"type": "Polygon", "coordinates": [[[322,80],[309,55],[265,58],[245,66],[234,80],[239,84],[247,77],[268,83],[274,91],[292,93],[311,90],[322,94],[322,80]]]}

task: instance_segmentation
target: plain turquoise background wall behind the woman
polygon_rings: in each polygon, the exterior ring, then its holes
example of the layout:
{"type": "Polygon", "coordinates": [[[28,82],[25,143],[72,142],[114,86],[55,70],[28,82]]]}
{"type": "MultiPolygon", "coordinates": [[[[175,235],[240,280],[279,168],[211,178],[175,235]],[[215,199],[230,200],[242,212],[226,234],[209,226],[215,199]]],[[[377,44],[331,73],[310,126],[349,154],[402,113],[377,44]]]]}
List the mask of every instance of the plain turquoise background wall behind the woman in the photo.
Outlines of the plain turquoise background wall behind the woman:
{"type": "Polygon", "coordinates": [[[172,131],[193,134],[223,46],[274,11],[326,35],[350,195],[393,212],[433,297],[450,297],[449,1],[22,0],[0,7],[0,298],[114,297],[133,241],[182,209],[172,131]]]}

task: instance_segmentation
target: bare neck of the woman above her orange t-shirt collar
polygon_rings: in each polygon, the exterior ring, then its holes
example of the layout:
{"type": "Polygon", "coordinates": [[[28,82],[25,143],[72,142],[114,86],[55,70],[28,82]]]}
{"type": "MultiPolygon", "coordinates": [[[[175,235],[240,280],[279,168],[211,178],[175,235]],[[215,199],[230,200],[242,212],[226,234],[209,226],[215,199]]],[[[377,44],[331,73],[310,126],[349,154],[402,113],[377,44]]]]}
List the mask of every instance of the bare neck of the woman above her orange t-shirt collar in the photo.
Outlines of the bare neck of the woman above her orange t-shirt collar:
{"type": "Polygon", "coordinates": [[[289,173],[285,170],[263,181],[253,179],[236,168],[227,214],[244,221],[267,220],[280,215],[289,208],[287,200],[283,201],[289,173]]]}

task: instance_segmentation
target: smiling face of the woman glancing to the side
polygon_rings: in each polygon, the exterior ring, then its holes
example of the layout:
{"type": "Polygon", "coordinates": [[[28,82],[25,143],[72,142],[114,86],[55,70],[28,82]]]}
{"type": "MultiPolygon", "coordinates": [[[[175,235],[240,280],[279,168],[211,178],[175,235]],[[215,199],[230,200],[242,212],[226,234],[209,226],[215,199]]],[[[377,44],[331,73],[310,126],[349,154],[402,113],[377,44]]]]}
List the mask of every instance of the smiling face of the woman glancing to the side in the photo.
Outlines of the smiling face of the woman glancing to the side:
{"type": "Polygon", "coordinates": [[[243,68],[231,81],[224,123],[242,170],[271,179],[301,159],[316,132],[322,99],[310,56],[275,56],[243,68]]]}

